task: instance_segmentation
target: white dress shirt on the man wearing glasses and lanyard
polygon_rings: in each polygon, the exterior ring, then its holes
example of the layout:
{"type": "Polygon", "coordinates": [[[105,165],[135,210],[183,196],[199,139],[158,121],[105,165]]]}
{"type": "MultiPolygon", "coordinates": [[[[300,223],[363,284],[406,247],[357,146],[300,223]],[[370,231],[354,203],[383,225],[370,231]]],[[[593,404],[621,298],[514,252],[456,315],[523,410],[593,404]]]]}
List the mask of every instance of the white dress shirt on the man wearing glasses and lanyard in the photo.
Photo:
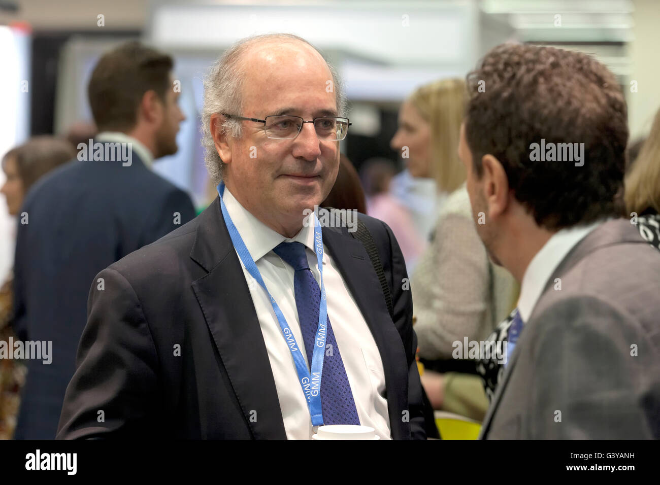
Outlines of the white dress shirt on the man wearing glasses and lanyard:
{"type": "MultiPolygon", "coordinates": [[[[242,207],[226,187],[222,199],[266,287],[296,337],[296,342],[309,367],[296,308],[294,269],[275,254],[273,249],[284,241],[304,244],[312,275],[320,287],[317,258],[314,252],[314,226],[303,226],[294,238],[285,238],[242,207]]],[[[387,399],[385,399],[385,373],[378,346],[341,273],[328,255],[325,244],[323,251],[323,282],[327,294],[327,313],[346,368],[360,424],[374,428],[381,439],[389,439],[391,434],[387,399]]],[[[241,265],[268,350],[286,437],[311,439],[315,429],[312,428],[310,410],[275,311],[268,295],[257,280],[249,275],[242,261],[241,265]]]]}

